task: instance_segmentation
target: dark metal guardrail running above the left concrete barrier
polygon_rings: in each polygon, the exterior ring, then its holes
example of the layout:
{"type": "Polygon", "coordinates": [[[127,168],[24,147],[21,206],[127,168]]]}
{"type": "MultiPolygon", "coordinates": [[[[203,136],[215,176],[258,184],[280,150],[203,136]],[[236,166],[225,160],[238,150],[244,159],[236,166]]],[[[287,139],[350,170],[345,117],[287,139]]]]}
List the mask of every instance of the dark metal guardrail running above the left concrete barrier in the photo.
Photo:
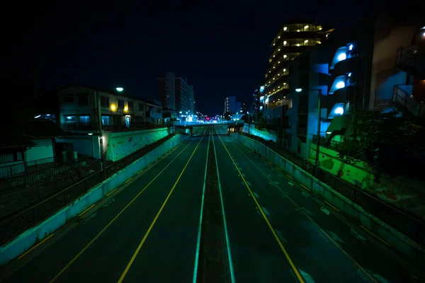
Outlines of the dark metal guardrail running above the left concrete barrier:
{"type": "MultiPolygon", "coordinates": [[[[165,141],[174,137],[176,132],[169,134],[159,141],[155,141],[148,146],[136,151],[134,154],[117,161],[110,166],[106,167],[106,178],[111,177],[111,175],[117,173],[121,169],[128,166],[133,161],[136,161],[138,158],[141,158],[152,149],[155,149],[160,144],[163,144],[165,141]]],[[[88,177],[83,180],[67,187],[66,189],[57,192],[55,195],[46,197],[44,200],[21,209],[21,211],[14,214],[5,216],[3,219],[0,219],[0,244],[4,244],[7,241],[11,240],[14,236],[17,236],[19,233],[25,231],[31,226],[38,224],[38,222],[45,219],[50,214],[57,212],[57,210],[62,209],[70,202],[76,200],[78,197],[88,192],[92,187],[98,185],[102,181],[102,172],[97,171],[91,173],[88,177]]]]}

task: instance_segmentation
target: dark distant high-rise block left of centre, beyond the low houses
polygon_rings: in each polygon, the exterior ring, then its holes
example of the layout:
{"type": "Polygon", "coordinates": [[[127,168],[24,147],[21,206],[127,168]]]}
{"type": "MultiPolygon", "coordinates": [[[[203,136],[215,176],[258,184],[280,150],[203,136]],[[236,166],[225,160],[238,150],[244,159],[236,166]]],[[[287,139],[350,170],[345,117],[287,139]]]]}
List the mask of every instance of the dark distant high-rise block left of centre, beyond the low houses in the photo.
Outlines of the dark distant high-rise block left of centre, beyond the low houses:
{"type": "Polygon", "coordinates": [[[166,73],[165,78],[158,78],[158,95],[162,105],[183,114],[192,113],[195,107],[193,86],[187,79],[176,77],[174,73],[166,73]]]}

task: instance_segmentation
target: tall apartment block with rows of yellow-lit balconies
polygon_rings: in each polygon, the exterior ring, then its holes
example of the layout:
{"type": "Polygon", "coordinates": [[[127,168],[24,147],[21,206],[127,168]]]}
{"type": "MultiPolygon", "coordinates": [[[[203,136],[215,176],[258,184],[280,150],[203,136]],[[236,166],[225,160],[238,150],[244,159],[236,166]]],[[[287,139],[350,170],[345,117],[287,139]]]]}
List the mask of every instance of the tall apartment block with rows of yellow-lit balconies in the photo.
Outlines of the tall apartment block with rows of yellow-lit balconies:
{"type": "Polygon", "coordinates": [[[263,83],[262,117],[264,122],[285,124],[285,97],[290,91],[288,76],[289,62],[307,48],[322,44],[333,29],[325,28],[312,21],[287,22],[278,31],[271,42],[271,54],[263,83]],[[283,109],[273,109],[283,108],[283,109]]]}

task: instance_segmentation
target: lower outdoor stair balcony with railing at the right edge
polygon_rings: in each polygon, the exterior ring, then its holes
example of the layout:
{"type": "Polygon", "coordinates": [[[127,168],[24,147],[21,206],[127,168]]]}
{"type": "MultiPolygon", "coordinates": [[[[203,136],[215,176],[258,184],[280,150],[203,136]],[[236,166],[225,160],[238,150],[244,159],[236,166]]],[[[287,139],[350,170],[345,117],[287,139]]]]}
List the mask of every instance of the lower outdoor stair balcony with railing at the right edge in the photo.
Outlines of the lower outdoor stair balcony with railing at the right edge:
{"type": "Polygon", "coordinates": [[[425,117],[425,103],[416,101],[409,93],[410,88],[412,88],[412,86],[409,85],[394,86],[392,101],[399,103],[399,105],[402,105],[404,109],[411,112],[416,117],[425,117]]]}

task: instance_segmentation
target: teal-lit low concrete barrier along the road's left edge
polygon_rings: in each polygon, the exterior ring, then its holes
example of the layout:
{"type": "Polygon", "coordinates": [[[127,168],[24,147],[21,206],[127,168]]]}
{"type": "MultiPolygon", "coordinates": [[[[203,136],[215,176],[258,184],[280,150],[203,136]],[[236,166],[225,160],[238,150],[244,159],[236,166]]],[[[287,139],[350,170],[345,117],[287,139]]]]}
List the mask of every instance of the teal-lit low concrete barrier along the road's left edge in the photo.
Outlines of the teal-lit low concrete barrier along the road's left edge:
{"type": "Polygon", "coordinates": [[[123,185],[126,180],[135,176],[138,172],[140,172],[140,170],[146,168],[149,164],[153,163],[159,157],[163,156],[166,152],[181,144],[181,142],[186,139],[188,139],[188,136],[177,134],[175,137],[165,141],[164,144],[161,144],[156,149],[149,151],[149,153],[142,158],[137,159],[137,161],[131,163],[121,171],[118,171],[107,180],[99,183],[85,195],[82,195],[79,199],[68,204],[67,207],[64,207],[48,219],[45,219],[45,221],[42,221],[37,226],[28,229],[16,237],[13,241],[2,246],[0,248],[0,265],[4,265],[6,262],[13,260],[18,255],[24,253],[35,243],[38,243],[38,241],[49,236],[51,233],[66,224],[67,221],[73,219],[75,216],[83,212],[84,209],[89,208],[92,204],[101,200],[108,194],[108,192],[111,192],[116,187],[123,185]]]}

